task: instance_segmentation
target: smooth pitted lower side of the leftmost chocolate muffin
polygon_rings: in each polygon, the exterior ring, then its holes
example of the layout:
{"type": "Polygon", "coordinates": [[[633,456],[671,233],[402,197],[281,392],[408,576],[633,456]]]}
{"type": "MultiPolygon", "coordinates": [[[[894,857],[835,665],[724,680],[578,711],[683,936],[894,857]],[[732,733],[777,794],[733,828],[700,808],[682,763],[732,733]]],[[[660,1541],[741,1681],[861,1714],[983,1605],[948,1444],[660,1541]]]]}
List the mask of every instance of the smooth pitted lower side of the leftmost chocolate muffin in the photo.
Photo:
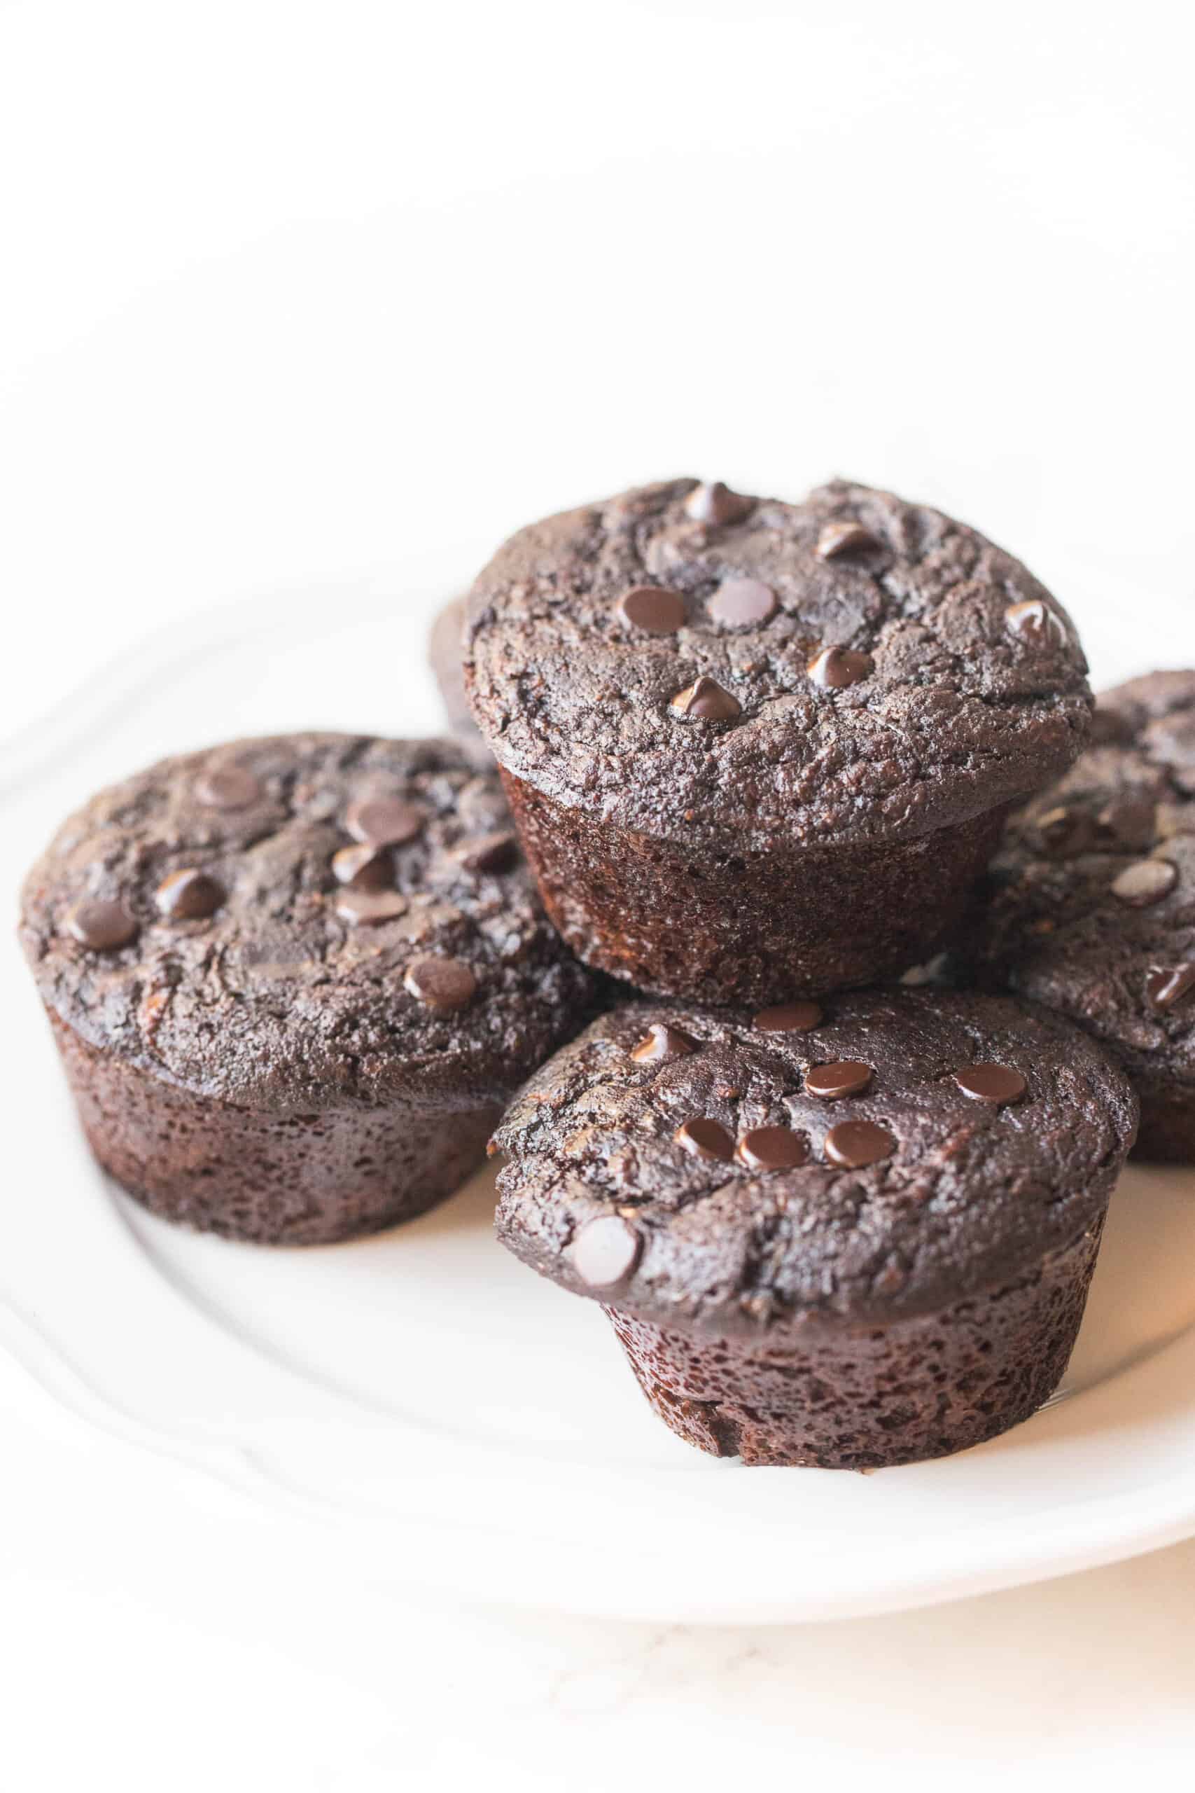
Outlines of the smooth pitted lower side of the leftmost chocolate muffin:
{"type": "Polygon", "coordinates": [[[482,1164],[500,1115],[238,1108],[50,1026],[100,1165],[150,1214],[226,1239],[330,1244],[414,1219],[482,1164]]]}

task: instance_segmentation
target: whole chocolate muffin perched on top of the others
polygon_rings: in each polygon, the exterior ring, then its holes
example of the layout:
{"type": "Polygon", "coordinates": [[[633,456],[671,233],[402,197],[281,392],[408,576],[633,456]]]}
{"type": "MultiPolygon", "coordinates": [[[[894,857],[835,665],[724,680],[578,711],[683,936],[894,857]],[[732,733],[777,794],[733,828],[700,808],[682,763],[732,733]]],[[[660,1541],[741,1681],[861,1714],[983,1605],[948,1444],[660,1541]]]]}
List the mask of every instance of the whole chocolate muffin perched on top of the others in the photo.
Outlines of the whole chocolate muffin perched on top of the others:
{"type": "Polygon", "coordinates": [[[692,479],[523,529],[466,687],[573,952],[767,1002],[923,959],[1089,721],[1066,613],[937,511],[692,479]]]}

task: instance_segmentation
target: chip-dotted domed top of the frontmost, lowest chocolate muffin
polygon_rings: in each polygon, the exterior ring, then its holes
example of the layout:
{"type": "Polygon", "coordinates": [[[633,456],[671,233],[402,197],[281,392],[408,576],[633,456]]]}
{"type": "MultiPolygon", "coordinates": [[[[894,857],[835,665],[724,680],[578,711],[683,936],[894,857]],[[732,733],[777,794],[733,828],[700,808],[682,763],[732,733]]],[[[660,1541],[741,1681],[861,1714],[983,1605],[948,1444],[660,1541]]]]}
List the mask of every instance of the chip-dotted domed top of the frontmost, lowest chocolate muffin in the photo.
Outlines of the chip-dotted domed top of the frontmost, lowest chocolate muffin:
{"type": "Polygon", "coordinates": [[[665,1325],[933,1312],[1075,1241],[1136,1097],[1010,997],[880,990],[758,1015],[636,1002],[520,1092],[498,1235],[665,1325]]]}

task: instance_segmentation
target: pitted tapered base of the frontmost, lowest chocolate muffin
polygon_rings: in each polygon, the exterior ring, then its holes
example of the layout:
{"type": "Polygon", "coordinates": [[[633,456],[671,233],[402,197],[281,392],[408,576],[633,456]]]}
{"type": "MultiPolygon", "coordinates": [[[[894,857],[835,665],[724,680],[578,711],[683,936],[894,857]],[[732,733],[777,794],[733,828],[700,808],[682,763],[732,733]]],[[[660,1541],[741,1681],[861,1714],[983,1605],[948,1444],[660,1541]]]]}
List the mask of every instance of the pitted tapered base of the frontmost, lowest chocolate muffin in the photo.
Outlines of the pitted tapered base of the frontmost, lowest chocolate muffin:
{"type": "Polygon", "coordinates": [[[889,1325],[808,1323],[760,1339],[675,1332],[606,1309],[665,1425],[754,1465],[887,1468],[996,1438],[1070,1361],[1104,1217],[1014,1284],[889,1325]]]}

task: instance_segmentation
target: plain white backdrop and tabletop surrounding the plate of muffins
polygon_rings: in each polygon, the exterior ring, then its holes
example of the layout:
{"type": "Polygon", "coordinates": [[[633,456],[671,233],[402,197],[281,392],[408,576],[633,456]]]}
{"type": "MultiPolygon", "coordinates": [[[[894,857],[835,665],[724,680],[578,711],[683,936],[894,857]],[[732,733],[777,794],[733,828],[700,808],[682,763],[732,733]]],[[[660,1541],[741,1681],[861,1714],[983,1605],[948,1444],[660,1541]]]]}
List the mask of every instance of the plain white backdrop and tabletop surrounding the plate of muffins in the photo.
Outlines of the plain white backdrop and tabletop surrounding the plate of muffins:
{"type": "MultiPolygon", "coordinates": [[[[1102,676],[1190,660],[1184,13],[0,0],[0,733],[677,472],[892,484],[1080,626],[1139,593],[1102,676]]],[[[770,1633],[450,1612],[0,1393],[20,1793],[1190,1773],[1191,1546],[770,1633]]]]}

